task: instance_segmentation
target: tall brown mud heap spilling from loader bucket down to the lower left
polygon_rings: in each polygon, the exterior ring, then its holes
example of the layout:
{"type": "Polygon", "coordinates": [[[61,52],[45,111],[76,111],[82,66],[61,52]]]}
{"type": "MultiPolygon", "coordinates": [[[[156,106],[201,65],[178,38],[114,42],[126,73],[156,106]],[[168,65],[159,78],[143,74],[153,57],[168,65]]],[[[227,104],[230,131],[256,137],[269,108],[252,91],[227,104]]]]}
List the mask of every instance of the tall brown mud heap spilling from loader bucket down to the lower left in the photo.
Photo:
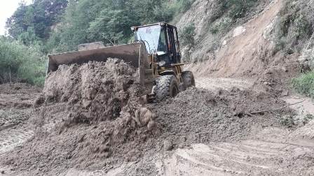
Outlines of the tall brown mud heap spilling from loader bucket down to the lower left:
{"type": "Polygon", "coordinates": [[[34,104],[35,137],[5,163],[39,174],[138,159],[158,130],[137,78],[119,59],[60,66],[34,104]]]}

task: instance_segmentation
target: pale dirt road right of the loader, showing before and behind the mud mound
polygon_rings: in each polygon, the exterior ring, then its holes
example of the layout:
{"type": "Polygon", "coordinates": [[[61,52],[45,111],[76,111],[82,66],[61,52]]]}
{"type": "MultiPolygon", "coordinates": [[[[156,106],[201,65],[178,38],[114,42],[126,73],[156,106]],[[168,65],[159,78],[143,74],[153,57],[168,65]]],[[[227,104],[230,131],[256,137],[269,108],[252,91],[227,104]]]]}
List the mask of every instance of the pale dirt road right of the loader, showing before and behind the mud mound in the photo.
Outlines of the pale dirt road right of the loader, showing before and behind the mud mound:
{"type": "MultiPolygon", "coordinates": [[[[198,88],[248,89],[250,80],[230,78],[198,78],[198,88]]],[[[294,100],[295,101],[295,100],[294,100]]],[[[288,103],[296,103],[287,98],[288,103]]],[[[300,100],[298,100],[300,101],[300,100]]],[[[305,101],[311,107],[313,103],[305,101]]],[[[295,105],[292,105],[292,108],[295,105]]],[[[298,107],[303,105],[298,104],[298,107]]],[[[147,154],[136,163],[123,164],[108,173],[71,169],[64,175],[313,175],[314,140],[285,127],[254,126],[247,139],[237,142],[196,143],[172,152],[147,154]]],[[[310,129],[313,131],[313,129],[310,129]]]]}

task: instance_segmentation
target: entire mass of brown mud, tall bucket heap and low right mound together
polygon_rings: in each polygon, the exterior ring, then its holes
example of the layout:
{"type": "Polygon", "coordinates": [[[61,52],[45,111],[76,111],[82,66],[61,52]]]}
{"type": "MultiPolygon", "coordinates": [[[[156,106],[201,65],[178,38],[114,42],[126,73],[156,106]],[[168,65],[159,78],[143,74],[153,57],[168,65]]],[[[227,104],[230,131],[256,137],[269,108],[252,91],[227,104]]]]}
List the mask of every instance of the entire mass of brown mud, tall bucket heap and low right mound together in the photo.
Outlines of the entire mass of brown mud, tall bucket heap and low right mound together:
{"type": "MultiPolygon", "coordinates": [[[[285,105],[263,92],[193,88],[148,110],[140,95],[135,68],[118,59],[62,66],[48,76],[36,101],[34,138],[1,156],[2,164],[32,175],[69,168],[109,171],[144,154],[240,140],[254,126],[280,126],[264,110],[285,105]]],[[[285,113],[286,108],[276,111],[285,113]]]]}

